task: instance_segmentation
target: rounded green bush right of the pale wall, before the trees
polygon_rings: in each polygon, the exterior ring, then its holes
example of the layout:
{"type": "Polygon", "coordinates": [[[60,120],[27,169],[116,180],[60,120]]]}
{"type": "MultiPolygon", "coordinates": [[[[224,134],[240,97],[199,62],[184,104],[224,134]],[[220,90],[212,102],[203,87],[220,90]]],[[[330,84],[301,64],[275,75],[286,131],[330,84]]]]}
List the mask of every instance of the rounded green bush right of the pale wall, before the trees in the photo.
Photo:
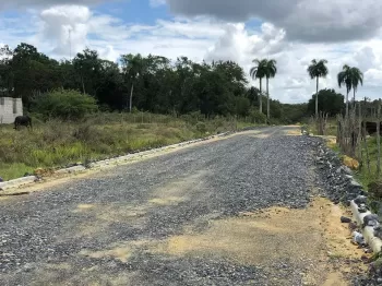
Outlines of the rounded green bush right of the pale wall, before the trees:
{"type": "Polygon", "coordinates": [[[79,120],[96,110],[93,97],[72,90],[56,90],[38,96],[33,103],[33,111],[45,119],[79,120]]]}

